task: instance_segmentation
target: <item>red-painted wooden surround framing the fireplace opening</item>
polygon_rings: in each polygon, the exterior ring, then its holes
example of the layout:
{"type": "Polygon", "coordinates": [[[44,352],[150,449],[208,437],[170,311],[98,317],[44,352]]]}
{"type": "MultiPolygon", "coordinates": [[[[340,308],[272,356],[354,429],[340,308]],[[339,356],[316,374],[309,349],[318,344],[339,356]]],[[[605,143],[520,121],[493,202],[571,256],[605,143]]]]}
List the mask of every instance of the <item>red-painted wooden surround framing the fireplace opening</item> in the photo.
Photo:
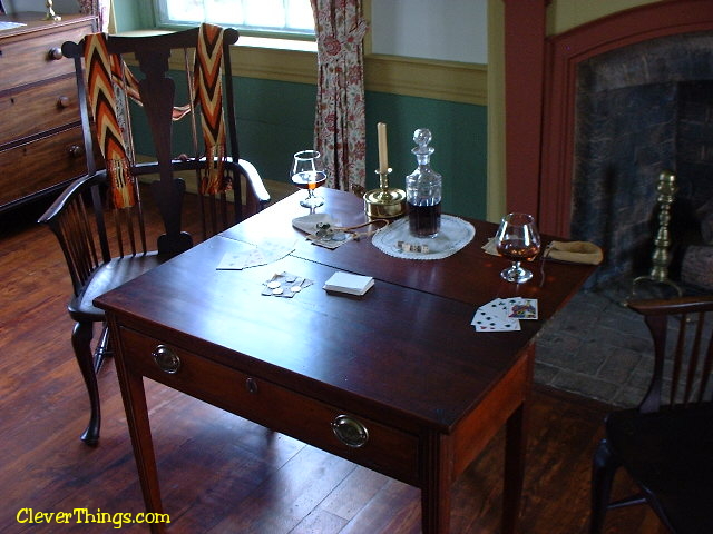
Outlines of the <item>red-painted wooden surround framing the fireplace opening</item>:
{"type": "Polygon", "coordinates": [[[665,0],[546,37],[549,0],[505,1],[507,209],[569,235],[580,61],[657,37],[713,30],[713,0],[665,0]]]}

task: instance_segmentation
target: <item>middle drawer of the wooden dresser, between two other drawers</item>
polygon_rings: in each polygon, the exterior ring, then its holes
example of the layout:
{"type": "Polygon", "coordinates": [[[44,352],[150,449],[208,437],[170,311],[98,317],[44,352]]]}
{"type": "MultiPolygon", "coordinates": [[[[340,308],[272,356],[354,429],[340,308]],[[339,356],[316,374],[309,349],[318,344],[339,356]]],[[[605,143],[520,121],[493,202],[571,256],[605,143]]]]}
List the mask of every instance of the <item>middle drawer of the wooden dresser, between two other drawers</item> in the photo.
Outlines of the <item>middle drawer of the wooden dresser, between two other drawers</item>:
{"type": "Polygon", "coordinates": [[[79,106],[74,75],[0,96],[0,145],[77,122],[79,106]]]}

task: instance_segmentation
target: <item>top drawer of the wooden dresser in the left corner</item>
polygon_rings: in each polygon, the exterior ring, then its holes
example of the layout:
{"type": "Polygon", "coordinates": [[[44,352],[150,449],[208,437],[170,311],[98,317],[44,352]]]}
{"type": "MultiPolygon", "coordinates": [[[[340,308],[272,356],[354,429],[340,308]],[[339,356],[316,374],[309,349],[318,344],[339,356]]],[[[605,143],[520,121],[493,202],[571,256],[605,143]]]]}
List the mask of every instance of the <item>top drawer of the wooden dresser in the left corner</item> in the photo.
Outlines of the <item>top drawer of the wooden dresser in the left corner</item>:
{"type": "Polygon", "coordinates": [[[48,31],[27,39],[27,36],[10,37],[0,41],[0,92],[13,87],[47,80],[75,72],[75,62],[51,51],[65,41],[79,41],[91,32],[91,26],[48,31]]]}

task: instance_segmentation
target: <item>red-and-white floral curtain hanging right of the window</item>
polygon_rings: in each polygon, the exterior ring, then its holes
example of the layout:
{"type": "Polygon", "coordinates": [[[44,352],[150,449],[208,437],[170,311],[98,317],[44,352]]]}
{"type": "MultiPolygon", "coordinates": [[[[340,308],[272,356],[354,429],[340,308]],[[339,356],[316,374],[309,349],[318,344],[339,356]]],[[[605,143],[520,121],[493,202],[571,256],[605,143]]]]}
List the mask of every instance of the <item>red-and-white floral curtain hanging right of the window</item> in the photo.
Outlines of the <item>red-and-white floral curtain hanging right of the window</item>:
{"type": "Polygon", "coordinates": [[[362,0],[310,0],[318,41],[314,137],[329,187],[362,194],[365,175],[362,0]]]}

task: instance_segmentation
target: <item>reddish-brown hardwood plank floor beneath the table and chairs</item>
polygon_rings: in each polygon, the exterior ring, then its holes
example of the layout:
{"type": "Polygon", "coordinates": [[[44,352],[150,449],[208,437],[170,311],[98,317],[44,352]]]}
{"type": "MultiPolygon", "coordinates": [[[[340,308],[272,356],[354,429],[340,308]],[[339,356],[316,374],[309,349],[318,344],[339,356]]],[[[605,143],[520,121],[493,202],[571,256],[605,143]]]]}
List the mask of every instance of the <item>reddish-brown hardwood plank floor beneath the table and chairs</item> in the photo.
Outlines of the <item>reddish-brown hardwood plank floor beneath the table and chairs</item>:
{"type": "MultiPolygon", "coordinates": [[[[25,508],[144,510],[113,362],[99,375],[99,446],[79,441],[88,400],[70,346],[69,277],[35,215],[0,228],[0,532],[114,532],[115,524],[30,524],[25,508]]],[[[420,532],[420,492],[154,383],[148,404],[173,533],[420,532]]],[[[589,462],[605,407],[537,388],[522,532],[585,533],[589,462]]],[[[451,532],[499,532],[502,435],[453,487],[451,532]]],[[[628,488],[617,478],[616,492],[628,488]]],[[[96,515],[96,518],[101,518],[96,515]]],[[[87,517],[85,517],[85,521],[87,517]]],[[[124,525],[120,532],[147,532],[124,525]]],[[[663,533],[646,507],[613,511],[608,533],[663,533]]]]}

